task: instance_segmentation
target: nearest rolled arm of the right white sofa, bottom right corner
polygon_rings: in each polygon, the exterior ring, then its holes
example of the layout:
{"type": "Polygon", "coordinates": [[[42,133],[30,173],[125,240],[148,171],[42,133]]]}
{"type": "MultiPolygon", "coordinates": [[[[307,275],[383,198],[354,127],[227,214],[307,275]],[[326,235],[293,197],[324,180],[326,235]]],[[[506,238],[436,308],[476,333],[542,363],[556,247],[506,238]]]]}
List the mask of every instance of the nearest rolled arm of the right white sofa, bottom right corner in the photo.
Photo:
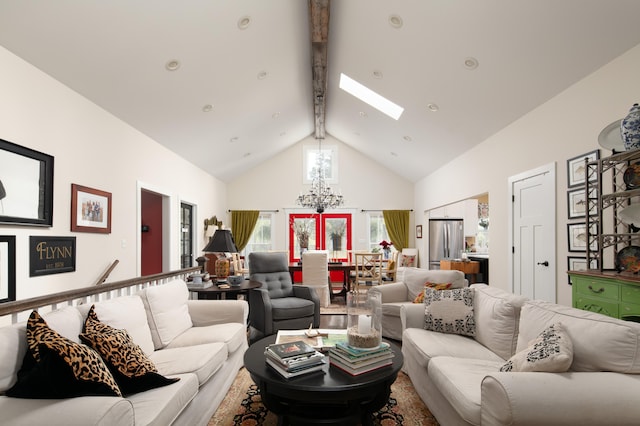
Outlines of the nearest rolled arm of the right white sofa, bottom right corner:
{"type": "Polygon", "coordinates": [[[482,424],[637,425],[640,418],[638,375],[492,373],[481,389],[482,424]]]}

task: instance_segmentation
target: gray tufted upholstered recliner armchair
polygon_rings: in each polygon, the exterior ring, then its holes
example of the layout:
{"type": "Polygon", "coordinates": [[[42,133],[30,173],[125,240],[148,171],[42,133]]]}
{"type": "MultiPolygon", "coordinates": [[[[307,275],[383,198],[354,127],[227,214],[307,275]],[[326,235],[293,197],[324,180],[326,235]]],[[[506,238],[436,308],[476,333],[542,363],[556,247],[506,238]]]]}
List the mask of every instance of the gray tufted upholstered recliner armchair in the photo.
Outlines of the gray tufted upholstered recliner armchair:
{"type": "Polygon", "coordinates": [[[286,253],[250,253],[249,276],[262,283],[249,297],[253,328],[268,336],[320,326],[320,299],[312,288],[293,285],[286,253]]]}

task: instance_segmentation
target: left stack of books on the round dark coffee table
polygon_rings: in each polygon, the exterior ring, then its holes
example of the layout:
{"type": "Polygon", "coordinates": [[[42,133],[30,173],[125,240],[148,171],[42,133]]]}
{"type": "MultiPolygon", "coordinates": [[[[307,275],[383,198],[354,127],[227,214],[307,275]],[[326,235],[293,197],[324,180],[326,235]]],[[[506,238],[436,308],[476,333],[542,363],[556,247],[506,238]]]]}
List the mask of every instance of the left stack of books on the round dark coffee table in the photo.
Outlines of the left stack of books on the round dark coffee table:
{"type": "Polygon", "coordinates": [[[301,340],[269,345],[264,354],[267,364],[286,379],[322,371],[326,363],[322,352],[301,340]]]}

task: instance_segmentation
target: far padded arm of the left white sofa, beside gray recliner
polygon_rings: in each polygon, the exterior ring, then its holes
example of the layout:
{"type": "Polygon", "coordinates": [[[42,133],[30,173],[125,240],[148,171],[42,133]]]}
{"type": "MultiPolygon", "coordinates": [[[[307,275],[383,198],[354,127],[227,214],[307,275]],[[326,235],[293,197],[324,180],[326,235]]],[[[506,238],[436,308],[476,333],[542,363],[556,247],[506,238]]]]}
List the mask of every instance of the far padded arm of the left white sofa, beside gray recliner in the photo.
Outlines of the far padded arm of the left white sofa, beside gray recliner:
{"type": "Polygon", "coordinates": [[[249,304],[244,300],[188,300],[194,327],[238,322],[247,325],[249,304]]]}

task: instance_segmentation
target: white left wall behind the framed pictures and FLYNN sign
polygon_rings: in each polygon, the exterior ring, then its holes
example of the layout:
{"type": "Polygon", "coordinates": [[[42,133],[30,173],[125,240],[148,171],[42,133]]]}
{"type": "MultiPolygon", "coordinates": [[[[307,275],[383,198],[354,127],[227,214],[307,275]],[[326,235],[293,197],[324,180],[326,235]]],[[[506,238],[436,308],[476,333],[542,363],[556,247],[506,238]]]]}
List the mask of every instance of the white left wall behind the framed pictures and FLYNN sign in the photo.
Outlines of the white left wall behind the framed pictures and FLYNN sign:
{"type": "MultiPolygon", "coordinates": [[[[197,206],[197,246],[203,220],[226,211],[226,187],[203,170],[0,47],[0,139],[55,157],[53,226],[0,225],[15,235],[17,299],[92,285],[118,259],[108,281],[133,278],[140,232],[137,186],[171,195],[171,268],[179,268],[180,201],[197,206]],[[71,184],[112,193],[111,234],[70,232],[71,184]],[[30,235],[75,236],[76,271],[29,277],[30,235]]],[[[0,176],[2,166],[0,165],[0,176]]]]}

